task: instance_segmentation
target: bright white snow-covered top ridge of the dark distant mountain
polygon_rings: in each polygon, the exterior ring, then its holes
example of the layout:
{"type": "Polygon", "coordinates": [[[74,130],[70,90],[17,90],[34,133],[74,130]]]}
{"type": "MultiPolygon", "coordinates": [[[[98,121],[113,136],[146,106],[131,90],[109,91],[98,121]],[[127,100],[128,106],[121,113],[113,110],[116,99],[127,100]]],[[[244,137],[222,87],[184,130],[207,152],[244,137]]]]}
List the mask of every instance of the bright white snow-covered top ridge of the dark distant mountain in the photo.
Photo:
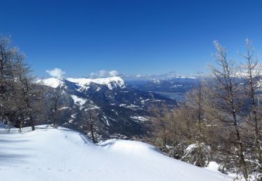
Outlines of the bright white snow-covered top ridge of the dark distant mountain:
{"type": "Polygon", "coordinates": [[[65,81],[69,81],[75,84],[76,86],[78,86],[79,88],[88,87],[89,84],[91,83],[108,86],[110,90],[112,90],[112,88],[124,88],[124,86],[126,86],[124,80],[121,79],[120,77],[108,77],[108,78],[101,78],[101,79],[49,78],[49,79],[38,80],[38,83],[42,83],[45,86],[50,86],[52,88],[57,88],[65,81]]]}

